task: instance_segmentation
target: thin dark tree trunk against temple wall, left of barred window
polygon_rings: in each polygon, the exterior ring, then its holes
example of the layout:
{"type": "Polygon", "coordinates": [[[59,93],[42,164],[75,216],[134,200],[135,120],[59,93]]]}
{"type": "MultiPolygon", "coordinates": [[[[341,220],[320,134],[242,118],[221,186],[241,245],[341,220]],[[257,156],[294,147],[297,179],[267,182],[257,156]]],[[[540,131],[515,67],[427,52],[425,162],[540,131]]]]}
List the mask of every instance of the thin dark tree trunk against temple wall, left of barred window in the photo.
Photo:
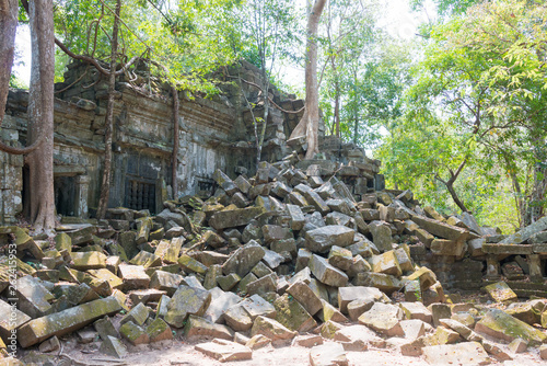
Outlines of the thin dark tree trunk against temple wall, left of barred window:
{"type": "Polygon", "coordinates": [[[112,52],[110,52],[110,71],[108,73],[108,101],[106,102],[105,133],[104,133],[104,171],[103,182],[101,184],[101,196],[98,198],[97,218],[104,219],[108,199],[110,197],[110,176],[112,176],[112,135],[114,126],[114,93],[116,91],[116,67],[118,57],[118,26],[119,14],[121,12],[121,0],[116,1],[116,11],[112,28],[112,52]]]}

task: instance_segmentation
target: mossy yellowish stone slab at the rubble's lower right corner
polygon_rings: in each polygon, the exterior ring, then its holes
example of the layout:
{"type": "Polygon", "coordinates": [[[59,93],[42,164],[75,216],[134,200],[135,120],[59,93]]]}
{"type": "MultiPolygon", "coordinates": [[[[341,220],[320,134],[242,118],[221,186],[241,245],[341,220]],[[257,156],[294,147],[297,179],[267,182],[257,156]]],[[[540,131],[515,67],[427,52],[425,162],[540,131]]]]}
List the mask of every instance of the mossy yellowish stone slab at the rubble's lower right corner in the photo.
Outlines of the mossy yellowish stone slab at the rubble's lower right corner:
{"type": "Polygon", "coordinates": [[[528,342],[532,346],[539,345],[547,341],[547,335],[542,331],[499,309],[490,309],[486,316],[477,322],[475,331],[508,342],[512,342],[514,339],[520,338],[528,342]]]}

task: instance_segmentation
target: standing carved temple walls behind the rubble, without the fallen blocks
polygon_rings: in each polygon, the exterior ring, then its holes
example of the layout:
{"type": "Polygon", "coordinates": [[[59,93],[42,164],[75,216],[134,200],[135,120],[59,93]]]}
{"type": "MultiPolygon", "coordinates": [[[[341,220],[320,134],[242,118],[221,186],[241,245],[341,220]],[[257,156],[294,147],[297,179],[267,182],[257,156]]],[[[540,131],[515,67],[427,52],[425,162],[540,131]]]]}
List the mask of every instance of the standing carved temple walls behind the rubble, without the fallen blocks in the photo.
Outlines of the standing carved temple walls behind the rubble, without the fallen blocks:
{"type": "MultiPolygon", "coordinates": [[[[94,76],[85,73],[85,70],[84,64],[71,64],[65,75],[65,83],[56,84],[58,94],[55,101],[57,213],[81,218],[93,214],[98,203],[107,98],[106,83],[93,84],[94,76]],[[92,87],[86,88],[90,84],[92,87]]],[[[252,82],[257,81],[259,75],[254,66],[246,62],[243,62],[240,72],[252,82]]],[[[147,87],[148,73],[144,70],[141,75],[141,80],[137,82],[147,87]]],[[[158,85],[159,89],[161,87],[168,90],[166,85],[158,85]]],[[[159,95],[167,95],[166,90],[159,95]]],[[[172,185],[172,100],[167,96],[146,96],[139,85],[131,85],[124,78],[117,82],[116,92],[114,175],[108,206],[160,213],[168,196],[167,186],[172,185]]],[[[212,192],[216,184],[212,174],[217,169],[234,178],[241,172],[255,173],[253,121],[242,93],[252,103],[258,100],[256,89],[247,84],[243,84],[243,90],[234,85],[224,87],[224,94],[212,100],[181,98],[177,191],[183,195],[212,192]]],[[[271,94],[284,110],[298,111],[303,106],[303,101],[292,101],[290,95],[275,88],[271,94]]],[[[24,145],[26,106],[26,91],[10,92],[2,125],[4,140],[24,145]]],[[[255,114],[261,115],[260,107],[255,114]]],[[[287,114],[270,107],[263,153],[266,161],[275,162],[292,152],[284,141],[301,116],[302,113],[287,114]]],[[[322,150],[329,152],[330,170],[335,169],[337,161],[356,163],[345,167],[339,175],[357,180],[357,194],[366,193],[368,187],[375,184],[382,185],[382,176],[377,175],[379,162],[366,159],[362,150],[349,148],[333,138],[322,139],[322,150]],[[377,183],[374,183],[375,180],[377,183]]],[[[25,168],[22,157],[5,153],[0,153],[0,164],[3,173],[0,221],[9,224],[25,209],[25,168]]]]}

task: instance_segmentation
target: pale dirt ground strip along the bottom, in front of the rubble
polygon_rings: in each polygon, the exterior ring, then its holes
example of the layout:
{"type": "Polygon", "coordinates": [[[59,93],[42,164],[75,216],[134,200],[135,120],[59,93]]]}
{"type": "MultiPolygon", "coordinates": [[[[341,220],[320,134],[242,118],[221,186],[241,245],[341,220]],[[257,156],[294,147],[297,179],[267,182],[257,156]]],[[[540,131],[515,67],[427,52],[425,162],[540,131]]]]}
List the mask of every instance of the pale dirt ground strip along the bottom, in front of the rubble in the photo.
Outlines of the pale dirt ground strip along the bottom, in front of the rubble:
{"type": "MultiPolygon", "coordinates": [[[[54,354],[39,354],[37,352],[26,352],[22,354],[22,361],[27,364],[44,366],[296,366],[310,365],[310,348],[302,346],[277,346],[268,345],[253,352],[253,358],[248,361],[220,363],[203,355],[194,347],[205,340],[196,342],[185,342],[181,340],[163,341],[156,344],[128,346],[128,356],[124,359],[115,359],[105,356],[98,351],[98,342],[86,345],[78,344],[73,336],[61,340],[62,354],[69,357],[54,354]]],[[[325,341],[329,342],[329,341],[325,341]]],[[[389,343],[389,342],[388,342],[389,343]]],[[[373,365],[373,366],[422,366],[430,365],[422,357],[404,356],[396,347],[383,350],[370,348],[362,352],[347,352],[350,366],[373,365]]],[[[547,362],[539,358],[537,348],[528,350],[526,353],[515,355],[513,361],[498,363],[492,359],[491,365],[526,366],[547,365],[547,362]]],[[[466,365],[465,365],[466,366],[466,365]]]]}

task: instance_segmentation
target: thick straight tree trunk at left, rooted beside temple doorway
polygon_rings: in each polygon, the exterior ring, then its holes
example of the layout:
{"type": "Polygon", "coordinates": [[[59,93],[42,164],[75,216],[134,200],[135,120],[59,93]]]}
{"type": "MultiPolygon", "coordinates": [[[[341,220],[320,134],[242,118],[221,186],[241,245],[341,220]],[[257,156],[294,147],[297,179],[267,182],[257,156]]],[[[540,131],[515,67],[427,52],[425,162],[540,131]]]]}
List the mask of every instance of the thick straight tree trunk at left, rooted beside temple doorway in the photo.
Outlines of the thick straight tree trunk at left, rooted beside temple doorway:
{"type": "Polygon", "coordinates": [[[53,0],[30,2],[32,68],[28,95],[28,144],[45,136],[26,157],[30,169],[31,220],[36,231],[55,228],[54,77],[55,35],[53,0]]]}

